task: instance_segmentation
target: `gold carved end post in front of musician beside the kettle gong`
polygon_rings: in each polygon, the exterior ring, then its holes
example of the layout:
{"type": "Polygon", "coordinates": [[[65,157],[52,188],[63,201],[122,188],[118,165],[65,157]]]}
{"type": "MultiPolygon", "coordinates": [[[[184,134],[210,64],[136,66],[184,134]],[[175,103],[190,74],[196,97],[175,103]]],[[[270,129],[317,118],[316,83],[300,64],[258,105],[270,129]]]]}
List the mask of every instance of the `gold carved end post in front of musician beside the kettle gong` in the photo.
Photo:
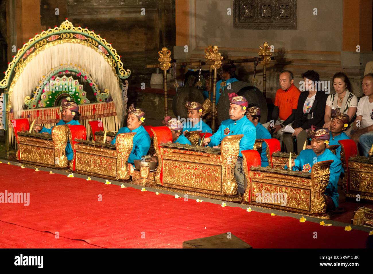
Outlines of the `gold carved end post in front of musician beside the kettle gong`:
{"type": "Polygon", "coordinates": [[[134,145],[135,132],[120,133],[116,139],[116,178],[118,180],[128,180],[130,177],[128,170],[128,157],[134,145]]]}

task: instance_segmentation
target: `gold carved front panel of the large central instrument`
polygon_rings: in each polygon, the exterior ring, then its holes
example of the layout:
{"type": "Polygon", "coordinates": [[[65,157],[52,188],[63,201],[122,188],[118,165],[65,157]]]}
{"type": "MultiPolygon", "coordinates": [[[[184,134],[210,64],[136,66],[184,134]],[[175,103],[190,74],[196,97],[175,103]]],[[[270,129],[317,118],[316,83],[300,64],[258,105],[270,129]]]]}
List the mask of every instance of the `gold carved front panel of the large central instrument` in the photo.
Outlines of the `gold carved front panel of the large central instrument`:
{"type": "Polygon", "coordinates": [[[221,192],[222,167],[163,159],[163,183],[221,192]]]}

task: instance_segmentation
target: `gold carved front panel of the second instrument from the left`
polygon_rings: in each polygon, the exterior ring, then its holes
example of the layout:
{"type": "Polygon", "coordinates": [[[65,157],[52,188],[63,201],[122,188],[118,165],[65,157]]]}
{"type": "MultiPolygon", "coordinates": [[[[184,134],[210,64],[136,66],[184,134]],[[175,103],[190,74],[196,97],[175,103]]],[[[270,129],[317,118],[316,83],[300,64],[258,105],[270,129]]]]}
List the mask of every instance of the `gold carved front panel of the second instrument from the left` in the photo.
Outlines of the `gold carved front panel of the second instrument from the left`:
{"type": "Polygon", "coordinates": [[[116,158],[104,157],[95,154],[76,151],[75,171],[84,171],[90,174],[98,174],[115,178],[116,158]]]}

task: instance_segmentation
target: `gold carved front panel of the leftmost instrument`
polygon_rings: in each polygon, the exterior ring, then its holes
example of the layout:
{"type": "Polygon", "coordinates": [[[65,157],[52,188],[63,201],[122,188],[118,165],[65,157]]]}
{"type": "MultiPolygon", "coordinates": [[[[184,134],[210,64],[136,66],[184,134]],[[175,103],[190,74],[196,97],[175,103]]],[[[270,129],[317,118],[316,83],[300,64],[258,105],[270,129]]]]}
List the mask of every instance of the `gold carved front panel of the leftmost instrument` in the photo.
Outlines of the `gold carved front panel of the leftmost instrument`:
{"type": "Polygon", "coordinates": [[[54,147],[46,148],[20,143],[19,151],[21,154],[21,162],[54,166],[54,147]]]}

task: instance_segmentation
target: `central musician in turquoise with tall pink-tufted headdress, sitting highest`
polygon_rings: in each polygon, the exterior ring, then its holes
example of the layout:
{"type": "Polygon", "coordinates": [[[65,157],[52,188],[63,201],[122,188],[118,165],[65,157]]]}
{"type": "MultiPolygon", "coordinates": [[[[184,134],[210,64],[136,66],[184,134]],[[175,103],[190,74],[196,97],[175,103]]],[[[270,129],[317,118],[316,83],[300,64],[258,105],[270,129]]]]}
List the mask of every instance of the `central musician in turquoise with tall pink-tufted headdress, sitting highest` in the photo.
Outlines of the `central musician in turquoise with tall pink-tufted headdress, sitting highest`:
{"type": "Polygon", "coordinates": [[[251,123],[245,116],[248,102],[245,97],[238,96],[235,93],[229,94],[229,117],[231,119],[225,120],[219,126],[219,129],[213,136],[204,138],[204,144],[209,144],[209,147],[220,145],[223,138],[229,135],[243,134],[239,142],[239,154],[235,166],[235,179],[238,186],[238,192],[244,193],[247,182],[245,180],[245,173],[242,167],[242,150],[253,149],[256,129],[253,123],[251,123]]]}

